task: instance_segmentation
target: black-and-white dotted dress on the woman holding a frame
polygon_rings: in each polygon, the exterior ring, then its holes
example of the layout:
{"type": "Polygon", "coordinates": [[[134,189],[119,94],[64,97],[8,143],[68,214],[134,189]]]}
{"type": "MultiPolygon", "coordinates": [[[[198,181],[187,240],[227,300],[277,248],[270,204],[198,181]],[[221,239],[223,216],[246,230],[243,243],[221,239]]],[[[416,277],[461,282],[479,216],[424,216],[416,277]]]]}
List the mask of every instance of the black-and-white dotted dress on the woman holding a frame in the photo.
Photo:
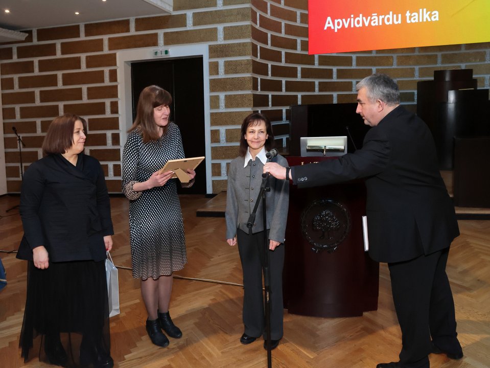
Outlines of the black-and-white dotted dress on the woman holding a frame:
{"type": "Polygon", "coordinates": [[[129,238],[135,279],[158,279],[181,270],[187,263],[184,225],[177,196],[178,179],[163,187],[134,192],[169,159],[184,158],[180,131],[169,122],[167,133],[158,141],[143,143],[138,129],[128,134],[123,151],[123,193],[129,202],[129,238]]]}

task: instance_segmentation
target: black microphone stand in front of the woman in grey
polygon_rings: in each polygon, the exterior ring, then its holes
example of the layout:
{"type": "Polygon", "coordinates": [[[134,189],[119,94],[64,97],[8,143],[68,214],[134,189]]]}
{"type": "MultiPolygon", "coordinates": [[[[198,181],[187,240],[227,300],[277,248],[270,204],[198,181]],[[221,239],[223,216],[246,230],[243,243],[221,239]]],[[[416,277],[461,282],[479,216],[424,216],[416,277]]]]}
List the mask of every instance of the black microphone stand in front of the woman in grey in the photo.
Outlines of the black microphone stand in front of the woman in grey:
{"type": "Polygon", "coordinates": [[[267,208],[266,208],[266,192],[270,192],[269,185],[269,173],[262,174],[262,185],[260,187],[259,195],[255,201],[250,217],[248,218],[247,227],[248,233],[252,233],[252,226],[255,222],[255,214],[259,207],[260,199],[262,198],[262,219],[264,220],[264,248],[263,252],[265,257],[261,257],[262,273],[264,275],[264,307],[265,307],[265,324],[266,324],[266,346],[267,346],[267,367],[272,367],[272,353],[270,349],[270,259],[269,259],[269,244],[267,242],[267,208]]]}

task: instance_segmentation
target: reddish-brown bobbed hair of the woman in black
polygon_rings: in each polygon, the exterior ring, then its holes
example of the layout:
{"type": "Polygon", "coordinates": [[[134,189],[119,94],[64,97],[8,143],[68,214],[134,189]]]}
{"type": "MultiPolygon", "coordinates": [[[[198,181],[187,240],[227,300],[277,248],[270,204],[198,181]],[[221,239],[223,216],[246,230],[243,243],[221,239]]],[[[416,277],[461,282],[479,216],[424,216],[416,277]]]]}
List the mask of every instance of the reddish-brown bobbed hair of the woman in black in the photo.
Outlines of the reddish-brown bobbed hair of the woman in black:
{"type": "Polygon", "coordinates": [[[65,153],[73,146],[73,130],[77,120],[82,122],[83,132],[87,134],[87,122],[78,115],[65,113],[51,122],[42,142],[43,156],[65,153]]]}

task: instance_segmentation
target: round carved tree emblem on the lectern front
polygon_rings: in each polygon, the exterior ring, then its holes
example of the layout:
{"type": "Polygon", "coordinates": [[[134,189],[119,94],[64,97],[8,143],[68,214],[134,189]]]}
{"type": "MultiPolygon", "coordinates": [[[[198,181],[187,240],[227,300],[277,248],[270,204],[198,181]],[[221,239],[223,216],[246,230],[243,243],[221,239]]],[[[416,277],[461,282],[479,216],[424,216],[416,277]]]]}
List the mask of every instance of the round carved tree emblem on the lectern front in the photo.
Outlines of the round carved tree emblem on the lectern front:
{"type": "Polygon", "coordinates": [[[301,231],[313,251],[333,253],[351,231],[351,215],[333,199],[315,200],[301,214],[301,231]]]}

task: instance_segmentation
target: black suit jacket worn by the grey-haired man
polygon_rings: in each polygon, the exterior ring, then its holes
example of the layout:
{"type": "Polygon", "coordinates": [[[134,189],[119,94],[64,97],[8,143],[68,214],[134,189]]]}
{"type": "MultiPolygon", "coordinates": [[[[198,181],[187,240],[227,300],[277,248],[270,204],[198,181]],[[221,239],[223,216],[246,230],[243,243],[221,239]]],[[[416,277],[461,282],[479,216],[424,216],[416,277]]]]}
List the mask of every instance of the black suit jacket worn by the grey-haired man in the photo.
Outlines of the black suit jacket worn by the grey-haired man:
{"type": "Polygon", "coordinates": [[[402,106],[369,129],[362,149],[291,172],[299,188],[365,178],[369,255],[375,261],[431,254],[459,235],[432,135],[402,106]]]}

